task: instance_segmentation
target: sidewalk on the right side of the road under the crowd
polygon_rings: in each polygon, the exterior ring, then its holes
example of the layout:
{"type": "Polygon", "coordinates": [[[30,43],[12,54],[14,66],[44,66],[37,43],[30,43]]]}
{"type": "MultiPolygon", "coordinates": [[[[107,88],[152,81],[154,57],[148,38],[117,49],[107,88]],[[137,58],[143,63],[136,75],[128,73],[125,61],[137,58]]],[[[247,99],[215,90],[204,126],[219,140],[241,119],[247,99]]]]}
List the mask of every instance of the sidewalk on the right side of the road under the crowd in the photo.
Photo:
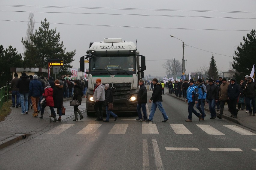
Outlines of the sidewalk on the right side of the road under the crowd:
{"type": "MultiPolygon", "coordinates": [[[[179,98],[179,97],[176,97],[175,94],[168,94],[168,89],[167,89],[167,93],[165,92],[165,94],[166,95],[170,95],[170,96],[172,96],[174,98],[177,98],[178,100],[186,102],[186,99],[183,98],[183,97],[179,98]]],[[[209,105],[208,105],[207,102],[205,102],[204,108],[205,108],[206,111],[210,112],[209,105]]],[[[239,110],[239,112],[237,114],[237,118],[233,119],[232,117],[230,117],[231,114],[228,112],[227,105],[225,105],[222,118],[230,120],[230,121],[235,122],[235,123],[237,123],[239,125],[242,125],[242,126],[244,126],[246,128],[249,128],[251,130],[256,131],[256,116],[252,116],[252,115],[249,116],[249,113],[245,113],[245,111],[246,110],[239,110]]],[[[217,115],[219,115],[220,111],[217,111],[217,109],[216,109],[216,113],[217,113],[217,115]]],[[[210,115],[207,115],[206,119],[210,119],[210,115]]],[[[216,117],[216,119],[219,119],[219,118],[216,117]]]]}

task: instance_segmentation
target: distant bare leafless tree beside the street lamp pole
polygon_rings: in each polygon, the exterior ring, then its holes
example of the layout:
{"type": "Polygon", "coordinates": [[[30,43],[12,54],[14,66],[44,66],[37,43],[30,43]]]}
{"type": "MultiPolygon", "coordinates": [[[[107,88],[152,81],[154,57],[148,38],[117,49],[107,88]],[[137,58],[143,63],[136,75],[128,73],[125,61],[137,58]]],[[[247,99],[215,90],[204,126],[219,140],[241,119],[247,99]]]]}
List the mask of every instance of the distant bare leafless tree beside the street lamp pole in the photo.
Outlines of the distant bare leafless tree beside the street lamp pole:
{"type": "Polygon", "coordinates": [[[172,75],[176,75],[178,72],[182,71],[182,65],[179,60],[167,60],[162,66],[166,69],[166,72],[172,75]]]}

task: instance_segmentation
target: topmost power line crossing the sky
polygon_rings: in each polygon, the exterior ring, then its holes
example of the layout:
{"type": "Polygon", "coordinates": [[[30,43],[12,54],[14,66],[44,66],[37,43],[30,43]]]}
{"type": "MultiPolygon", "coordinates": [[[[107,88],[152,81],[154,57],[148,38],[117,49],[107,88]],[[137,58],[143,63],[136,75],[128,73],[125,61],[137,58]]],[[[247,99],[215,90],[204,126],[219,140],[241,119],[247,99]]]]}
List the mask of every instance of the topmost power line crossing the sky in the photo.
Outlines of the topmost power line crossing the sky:
{"type": "Polygon", "coordinates": [[[179,9],[157,9],[157,8],[108,8],[108,7],[36,6],[36,5],[0,5],[0,6],[3,6],[3,7],[107,9],[107,10],[150,10],[150,11],[181,11],[181,12],[212,12],[212,13],[256,13],[254,11],[179,10],[179,9]]]}

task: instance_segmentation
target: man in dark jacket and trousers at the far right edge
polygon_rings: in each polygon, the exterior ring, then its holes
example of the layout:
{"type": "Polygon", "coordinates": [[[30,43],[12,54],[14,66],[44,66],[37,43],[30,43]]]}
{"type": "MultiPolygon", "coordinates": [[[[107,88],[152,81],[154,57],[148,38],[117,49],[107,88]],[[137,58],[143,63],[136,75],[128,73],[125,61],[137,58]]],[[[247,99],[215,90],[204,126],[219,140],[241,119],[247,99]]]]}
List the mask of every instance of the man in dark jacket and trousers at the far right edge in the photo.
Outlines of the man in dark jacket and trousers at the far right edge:
{"type": "Polygon", "coordinates": [[[243,89],[243,93],[245,96],[245,103],[246,108],[249,110],[249,115],[253,113],[253,116],[255,116],[256,113],[256,107],[255,107],[255,90],[256,90],[256,84],[252,81],[251,77],[247,78],[247,83],[243,89]],[[252,101],[252,110],[250,107],[250,100],[252,101]]]}

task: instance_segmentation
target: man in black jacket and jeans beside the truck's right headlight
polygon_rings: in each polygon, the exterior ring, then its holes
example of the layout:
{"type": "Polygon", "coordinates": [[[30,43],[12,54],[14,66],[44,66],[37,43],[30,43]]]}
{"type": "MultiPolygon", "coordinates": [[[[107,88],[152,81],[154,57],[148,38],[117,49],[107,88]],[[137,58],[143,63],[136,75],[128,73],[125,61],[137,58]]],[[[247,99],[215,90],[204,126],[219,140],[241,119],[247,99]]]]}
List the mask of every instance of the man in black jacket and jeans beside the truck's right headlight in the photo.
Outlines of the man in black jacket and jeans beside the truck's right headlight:
{"type": "Polygon", "coordinates": [[[144,85],[144,81],[143,80],[139,80],[139,92],[138,92],[138,104],[137,104],[137,112],[138,112],[138,116],[139,118],[136,119],[137,121],[146,121],[148,119],[147,116],[147,111],[146,111],[146,103],[148,101],[147,98],[147,88],[144,85]],[[142,119],[142,113],[141,113],[141,109],[143,112],[143,119],[142,119]]]}

